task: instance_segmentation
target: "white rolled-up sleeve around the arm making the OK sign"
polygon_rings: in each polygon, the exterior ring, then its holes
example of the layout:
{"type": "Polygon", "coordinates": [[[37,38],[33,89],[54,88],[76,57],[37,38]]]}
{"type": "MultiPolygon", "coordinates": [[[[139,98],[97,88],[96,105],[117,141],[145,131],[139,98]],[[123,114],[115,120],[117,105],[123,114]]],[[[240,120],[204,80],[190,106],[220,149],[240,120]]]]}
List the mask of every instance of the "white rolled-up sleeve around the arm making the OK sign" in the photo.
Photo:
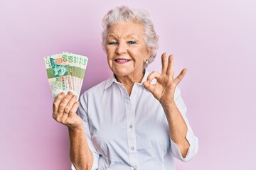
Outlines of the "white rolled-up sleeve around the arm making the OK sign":
{"type": "Polygon", "coordinates": [[[181,112],[181,115],[183,116],[183,119],[186,122],[186,125],[188,127],[188,132],[186,134],[186,140],[188,140],[188,143],[190,145],[188,149],[188,153],[186,154],[186,157],[181,156],[181,151],[176,145],[176,143],[171,140],[171,153],[173,154],[174,157],[177,159],[181,160],[182,162],[188,162],[191,160],[196,153],[198,152],[198,138],[193,134],[193,130],[191,129],[191,126],[188,123],[188,119],[186,118],[186,105],[183,102],[183,99],[181,98],[181,90],[176,88],[175,94],[174,94],[174,100],[176,103],[176,106],[178,108],[178,111],[181,112]]]}

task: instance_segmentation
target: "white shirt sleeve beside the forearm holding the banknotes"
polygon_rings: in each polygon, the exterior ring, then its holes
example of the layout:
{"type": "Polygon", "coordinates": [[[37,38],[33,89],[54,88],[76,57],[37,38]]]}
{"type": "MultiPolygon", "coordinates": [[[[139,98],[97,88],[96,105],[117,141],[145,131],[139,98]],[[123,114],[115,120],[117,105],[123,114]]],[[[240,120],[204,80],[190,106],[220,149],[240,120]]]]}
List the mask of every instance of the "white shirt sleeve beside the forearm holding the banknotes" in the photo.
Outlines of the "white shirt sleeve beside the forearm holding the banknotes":
{"type": "MultiPolygon", "coordinates": [[[[87,113],[87,111],[88,111],[87,99],[88,99],[88,94],[85,92],[80,97],[80,106],[78,108],[78,115],[80,116],[80,118],[82,118],[87,143],[88,143],[90,150],[93,154],[92,170],[95,170],[98,168],[98,161],[99,161],[100,155],[97,153],[97,150],[95,149],[95,146],[93,145],[92,140],[91,140],[90,127],[89,127],[89,122],[88,122],[88,113],[87,113]]],[[[73,164],[71,165],[71,169],[75,170],[75,166],[73,164]]]]}

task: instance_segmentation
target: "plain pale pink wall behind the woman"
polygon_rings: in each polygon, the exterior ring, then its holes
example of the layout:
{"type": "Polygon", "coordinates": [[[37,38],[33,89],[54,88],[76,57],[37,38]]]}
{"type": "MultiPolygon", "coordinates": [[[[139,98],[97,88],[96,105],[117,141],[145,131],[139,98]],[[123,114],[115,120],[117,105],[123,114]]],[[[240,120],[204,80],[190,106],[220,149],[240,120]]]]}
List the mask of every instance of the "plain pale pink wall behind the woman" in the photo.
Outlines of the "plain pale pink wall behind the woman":
{"type": "Polygon", "coordinates": [[[111,72],[101,47],[101,20],[127,5],[151,14],[160,37],[149,70],[173,53],[197,156],[177,169],[256,169],[256,2],[1,0],[0,169],[70,169],[68,131],[55,123],[43,57],[89,57],[82,90],[111,72]]]}

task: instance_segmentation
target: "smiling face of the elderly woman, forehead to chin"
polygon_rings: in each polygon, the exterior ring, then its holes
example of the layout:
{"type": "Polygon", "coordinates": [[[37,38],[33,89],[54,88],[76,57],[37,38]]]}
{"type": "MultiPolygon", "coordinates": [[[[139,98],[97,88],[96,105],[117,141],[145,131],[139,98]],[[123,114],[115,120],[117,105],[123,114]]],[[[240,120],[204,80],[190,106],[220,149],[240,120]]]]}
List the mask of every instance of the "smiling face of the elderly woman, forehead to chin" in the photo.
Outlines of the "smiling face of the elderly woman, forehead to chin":
{"type": "Polygon", "coordinates": [[[143,75],[143,65],[151,55],[144,42],[142,24],[115,23],[107,35],[107,62],[117,77],[143,75]]]}

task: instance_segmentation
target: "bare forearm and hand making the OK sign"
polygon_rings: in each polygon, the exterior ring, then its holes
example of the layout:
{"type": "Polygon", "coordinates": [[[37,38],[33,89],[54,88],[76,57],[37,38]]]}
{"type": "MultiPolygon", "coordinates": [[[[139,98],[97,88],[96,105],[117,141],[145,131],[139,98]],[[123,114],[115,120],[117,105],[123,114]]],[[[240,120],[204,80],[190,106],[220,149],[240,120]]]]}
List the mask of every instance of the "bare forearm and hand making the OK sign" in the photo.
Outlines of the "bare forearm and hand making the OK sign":
{"type": "Polygon", "coordinates": [[[169,61],[167,62],[166,53],[164,53],[161,60],[161,74],[159,72],[149,74],[147,81],[144,82],[144,86],[151,91],[154,97],[161,103],[169,123],[169,135],[171,140],[173,140],[180,149],[182,157],[186,157],[188,148],[190,147],[188,140],[186,140],[188,127],[174,101],[176,86],[185,76],[186,69],[183,69],[181,74],[174,79],[173,55],[169,56],[169,61]],[[150,84],[153,79],[157,80],[156,84],[150,84]]]}

